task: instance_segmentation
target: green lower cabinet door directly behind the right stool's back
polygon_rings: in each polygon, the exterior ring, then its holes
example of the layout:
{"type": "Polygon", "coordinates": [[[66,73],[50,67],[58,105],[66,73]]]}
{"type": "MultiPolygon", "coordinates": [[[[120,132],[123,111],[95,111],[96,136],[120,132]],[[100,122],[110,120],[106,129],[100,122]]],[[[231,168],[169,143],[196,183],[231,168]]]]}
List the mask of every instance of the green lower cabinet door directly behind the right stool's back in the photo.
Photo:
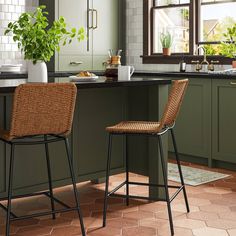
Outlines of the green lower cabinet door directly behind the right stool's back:
{"type": "MultiPolygon", "coordinates": [[[[191,78],[174,128],[180,154],[211,157],[211,80],[191,78]]],[[[169,151],[173,152],[169,135],[169,151]]]]}

